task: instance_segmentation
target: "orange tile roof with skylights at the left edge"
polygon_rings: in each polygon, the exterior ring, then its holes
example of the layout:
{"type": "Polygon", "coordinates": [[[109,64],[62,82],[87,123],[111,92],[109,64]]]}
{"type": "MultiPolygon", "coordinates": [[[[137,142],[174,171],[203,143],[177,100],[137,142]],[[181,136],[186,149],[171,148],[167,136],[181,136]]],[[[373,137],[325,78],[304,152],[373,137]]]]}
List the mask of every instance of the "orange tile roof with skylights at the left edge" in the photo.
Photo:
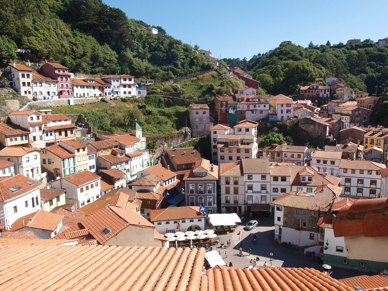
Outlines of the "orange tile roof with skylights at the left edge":
{"type": "Polygon", "coordinates": [[[4,178],[5,179],[0,180],[0,201],[5,201],[19,196],[40,186],[39,182],[31,180],[30,178],[24,177],[20,174],[4,178]]]}

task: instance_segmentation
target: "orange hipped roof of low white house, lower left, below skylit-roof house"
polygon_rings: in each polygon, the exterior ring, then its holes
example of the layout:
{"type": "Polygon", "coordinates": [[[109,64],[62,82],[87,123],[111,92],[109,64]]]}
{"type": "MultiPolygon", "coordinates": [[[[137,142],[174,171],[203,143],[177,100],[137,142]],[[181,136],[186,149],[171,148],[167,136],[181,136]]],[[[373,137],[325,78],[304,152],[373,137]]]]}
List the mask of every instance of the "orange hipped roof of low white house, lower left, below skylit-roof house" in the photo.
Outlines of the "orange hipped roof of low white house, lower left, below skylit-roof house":
{"type": "Polygon", "coordinates": [[[55,213],[38,210],[34,213],[18,218],[9,231],[16,231],[23,227],[54,231],[61,222],[63,216],[55,213]]]}

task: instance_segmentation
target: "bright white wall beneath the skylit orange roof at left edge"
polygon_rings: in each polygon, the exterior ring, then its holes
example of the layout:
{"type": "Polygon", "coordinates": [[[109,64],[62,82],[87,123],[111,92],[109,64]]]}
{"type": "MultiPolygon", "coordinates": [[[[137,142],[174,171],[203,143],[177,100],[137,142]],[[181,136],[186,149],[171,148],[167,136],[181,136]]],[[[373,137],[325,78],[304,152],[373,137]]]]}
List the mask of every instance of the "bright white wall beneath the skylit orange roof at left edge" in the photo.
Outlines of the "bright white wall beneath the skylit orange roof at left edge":
{"type": "MultiPolygon", "coordinates": [[[[19,184],[16,183],[15,186],[17,185],[19,184]]],[[[0,223],[5,225],[5,229],[10,229],[18,218],[41,210],[39,187],[40,185],[21,195],[0,201],[0,223]]]]}

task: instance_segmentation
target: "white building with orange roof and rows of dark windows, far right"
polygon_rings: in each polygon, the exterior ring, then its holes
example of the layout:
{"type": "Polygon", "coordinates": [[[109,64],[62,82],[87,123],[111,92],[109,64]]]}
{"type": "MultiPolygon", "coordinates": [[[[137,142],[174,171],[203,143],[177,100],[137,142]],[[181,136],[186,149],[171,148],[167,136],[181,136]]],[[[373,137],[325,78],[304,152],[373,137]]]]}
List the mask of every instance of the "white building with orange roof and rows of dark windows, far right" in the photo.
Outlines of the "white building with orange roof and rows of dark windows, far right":
{"type": "Polygon", "coordinates": [[[343,194],[376,198],[381,191],[381,169],[384,164],[365,160],[341,159],[340,186],[343,194]]]}

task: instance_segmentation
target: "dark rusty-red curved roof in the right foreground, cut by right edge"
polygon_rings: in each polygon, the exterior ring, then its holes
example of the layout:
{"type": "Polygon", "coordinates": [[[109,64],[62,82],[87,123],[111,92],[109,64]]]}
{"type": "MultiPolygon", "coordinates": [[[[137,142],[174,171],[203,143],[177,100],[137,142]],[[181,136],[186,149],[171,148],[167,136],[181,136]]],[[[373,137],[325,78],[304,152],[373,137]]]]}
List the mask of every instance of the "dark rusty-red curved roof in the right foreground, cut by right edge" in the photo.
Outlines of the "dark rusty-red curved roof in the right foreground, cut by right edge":
{"type": "Polygon", "coordinates": [[[334,236],[385,237],[388,236],[388,198],[355,201],[337,213],[334,236]]]}

